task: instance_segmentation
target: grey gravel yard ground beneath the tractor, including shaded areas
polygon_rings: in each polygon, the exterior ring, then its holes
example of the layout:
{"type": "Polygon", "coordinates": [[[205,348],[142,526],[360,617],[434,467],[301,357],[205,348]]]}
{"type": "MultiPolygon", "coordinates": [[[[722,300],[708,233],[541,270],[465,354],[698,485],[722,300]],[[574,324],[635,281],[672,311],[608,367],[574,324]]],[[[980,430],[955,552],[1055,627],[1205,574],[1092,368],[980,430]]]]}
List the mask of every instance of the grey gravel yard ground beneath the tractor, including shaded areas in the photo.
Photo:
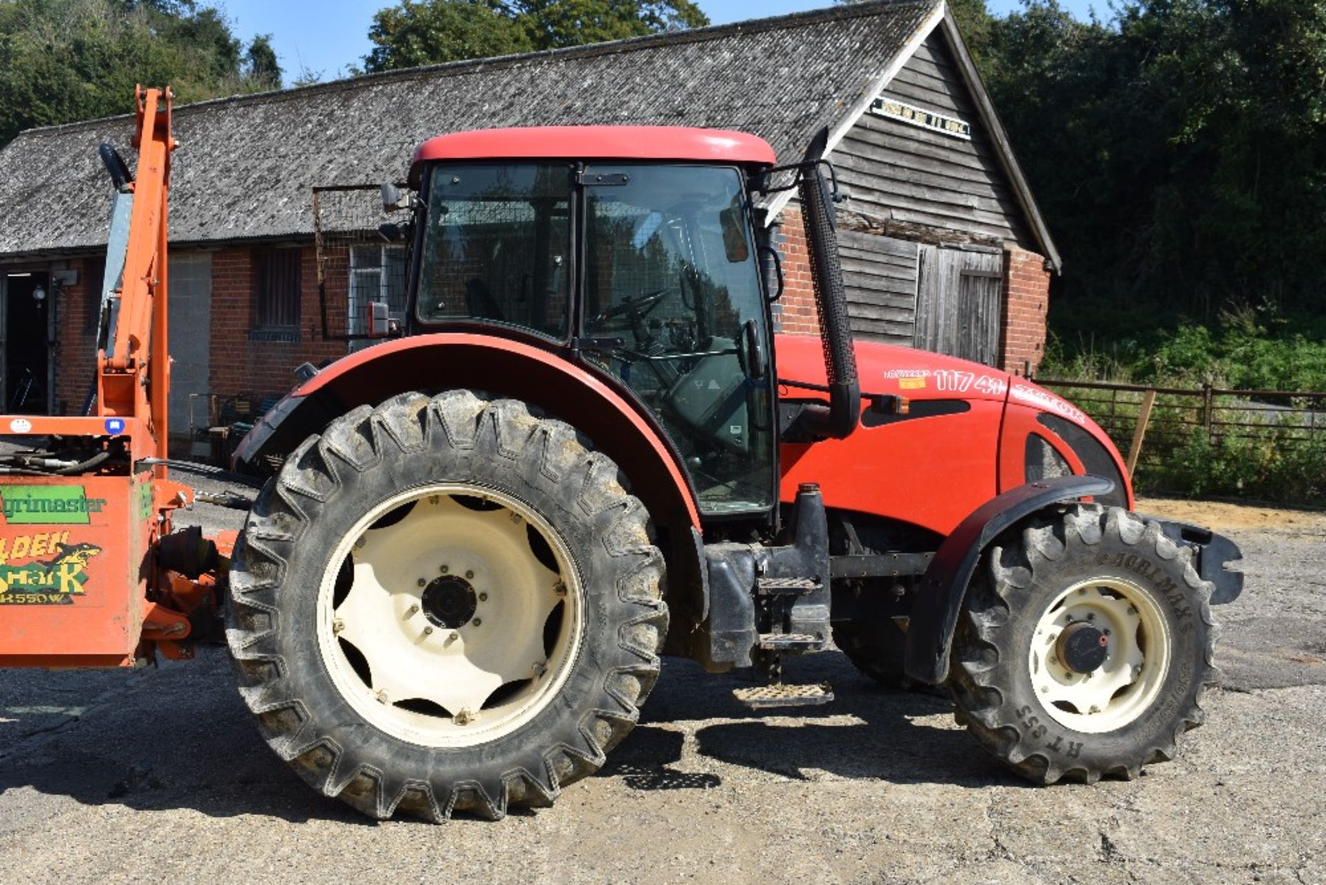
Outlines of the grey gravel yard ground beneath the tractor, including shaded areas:
{"type": "MultiPolygon", "coordinates": [[[[1177,762],[1033,788],[952,720],[837,653],[837,701],[756,716],[741,677],[668,659],[640,726],[557,805],[375,824],[259,739],[223,649],[142,671],[0,681],[0,882],[1326,882],[1326,517],[1146,502],[1228,529],[1224,689],[1177,762]]],[[[199,506],[215,528],[232,512],[199,506]]]]}

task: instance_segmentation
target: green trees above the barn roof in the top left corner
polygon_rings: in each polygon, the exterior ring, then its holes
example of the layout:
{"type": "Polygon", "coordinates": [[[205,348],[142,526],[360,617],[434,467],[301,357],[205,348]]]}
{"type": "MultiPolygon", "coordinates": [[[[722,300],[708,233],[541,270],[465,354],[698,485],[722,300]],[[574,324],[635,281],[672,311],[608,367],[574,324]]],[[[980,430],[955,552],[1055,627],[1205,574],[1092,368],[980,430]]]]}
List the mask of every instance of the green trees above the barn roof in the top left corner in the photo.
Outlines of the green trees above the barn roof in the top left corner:
{"type": "Polygon", "coordinates": [[[0,146],[24,129],[126,113],[135,84],[180,102],[281,85],[268,37],[247,52],[192,0],[0,0],[0,146]]]}

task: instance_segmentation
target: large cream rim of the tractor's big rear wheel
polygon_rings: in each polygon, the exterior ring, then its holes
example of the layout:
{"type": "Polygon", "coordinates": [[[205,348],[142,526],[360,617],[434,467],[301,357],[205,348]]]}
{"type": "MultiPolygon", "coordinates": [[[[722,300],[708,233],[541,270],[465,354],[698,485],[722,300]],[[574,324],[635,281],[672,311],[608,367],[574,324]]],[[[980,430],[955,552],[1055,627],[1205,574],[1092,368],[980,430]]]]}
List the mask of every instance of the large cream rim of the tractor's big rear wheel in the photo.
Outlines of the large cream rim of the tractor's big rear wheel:
{"type": "Polygon", "coordinates": [[[520,728],[581,642],[582,588],[528,504],[435,484],[371,508],[333,551],[318,647],[341,697],[382,731],[463,747],[520,728]]]}

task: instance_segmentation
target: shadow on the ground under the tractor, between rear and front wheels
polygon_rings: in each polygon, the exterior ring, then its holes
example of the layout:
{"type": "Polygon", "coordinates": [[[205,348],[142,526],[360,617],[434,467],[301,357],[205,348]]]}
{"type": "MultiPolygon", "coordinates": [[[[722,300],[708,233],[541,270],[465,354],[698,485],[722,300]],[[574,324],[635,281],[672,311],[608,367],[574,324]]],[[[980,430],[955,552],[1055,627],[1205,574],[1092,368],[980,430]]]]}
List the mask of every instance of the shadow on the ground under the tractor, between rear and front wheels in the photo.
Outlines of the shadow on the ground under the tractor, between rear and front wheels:
{"type": "Polygon", "coordinates": [[[753,711],[732,698],[732,689],[752,685],[748,674],[711,675],[667,658],[639,726],[599,776],[631,789],[707,789],[739,778],[724,771],[739,766],[796,780],[1026,785],[953,724],[947,694],[880,687],[837,653],[789,661],[785,679],[829,682],[834,701],[753,711]]]}

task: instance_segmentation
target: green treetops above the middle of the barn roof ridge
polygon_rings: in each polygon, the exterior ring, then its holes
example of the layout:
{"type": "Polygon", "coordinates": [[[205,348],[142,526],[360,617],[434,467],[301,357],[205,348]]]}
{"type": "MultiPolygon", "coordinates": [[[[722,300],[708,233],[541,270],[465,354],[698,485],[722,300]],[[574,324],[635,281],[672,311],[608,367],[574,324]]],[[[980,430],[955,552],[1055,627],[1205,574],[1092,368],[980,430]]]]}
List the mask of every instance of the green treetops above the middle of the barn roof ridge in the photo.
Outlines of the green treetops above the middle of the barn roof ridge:
{"type": "Polygon", "coordinates": [[[367,72],[696,28],[692,0],[400,0],[373,17],[367,72]]]}

